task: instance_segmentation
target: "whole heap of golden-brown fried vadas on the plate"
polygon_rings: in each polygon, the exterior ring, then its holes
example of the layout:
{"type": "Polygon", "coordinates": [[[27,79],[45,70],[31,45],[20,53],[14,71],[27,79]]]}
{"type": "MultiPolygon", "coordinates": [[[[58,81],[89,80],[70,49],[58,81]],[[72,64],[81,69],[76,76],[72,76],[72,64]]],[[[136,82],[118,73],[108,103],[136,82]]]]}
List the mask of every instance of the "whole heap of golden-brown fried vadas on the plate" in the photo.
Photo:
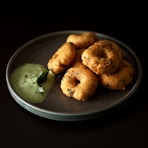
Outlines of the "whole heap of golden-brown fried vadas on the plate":
{"type": "Polygon", "coordinates": [[[54,74],[64,73],[60,88],[67,97],[86,101],[98,85],[125,90],[132,82],[134,68],[115,42],[99,40],[93,32],[70,34],[48,61],[54,74]]]}

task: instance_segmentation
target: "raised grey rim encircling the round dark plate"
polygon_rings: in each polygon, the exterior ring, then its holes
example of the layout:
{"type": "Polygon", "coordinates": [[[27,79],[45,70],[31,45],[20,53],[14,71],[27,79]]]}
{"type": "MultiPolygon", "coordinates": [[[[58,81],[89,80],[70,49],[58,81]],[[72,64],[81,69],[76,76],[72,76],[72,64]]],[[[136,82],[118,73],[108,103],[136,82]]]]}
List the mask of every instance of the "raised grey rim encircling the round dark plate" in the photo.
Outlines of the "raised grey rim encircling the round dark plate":
{"type": "Polygon", "coordinates": [[[7,82],[7,87],[9,89],[9,92],[12,96],[12,98],[20,105],[22,106],[24,109],[28,110],[29,112],[36,114],[40,117],[44,117],[47,119],[52,119],[52,120],[59,120],[59,121],[79,121],[79,120],[86,120],[86,119],[91,119],[94,117],[98,117],[100,115],[100,113],[103,113],[105,111],[108,111],[110,109],[113,109],[114,107],[122,104],[123,102],[125,102],[126,100],[128,100],[137,90],[137,88],[139,87],[140,83],[141,83],[141,79],[142,79],[142,64],[141,61],[139,59],[139,57],[137,56],[137,54],[124,42],[109,36],[107,34],[103,34],[103,33],[99,33],[99,32],[95,32],[95,31],[91,31],[96,33],[97,35],[100,35],[101,37],[104,38],[110,38],[112,40],[114,40],[115,42],[119,43],[120,45],[122,45],[124,48],[126,48],[130,54],[133,56],[135,62],[136,62],[136,67],[137,67],[137,79],[133,85],[133,87],[130,89],[130,91],[128,92],[128,97],[124,96],[122,98],[122,100],[118,101],[118,102],[114,102],[113,104],[108,105],[107,107],[104,107],[103,109],[101,109],[101,111],[97,112],[96,111],[87,111],[87,112],[82,112],[82,113],[64,113],[64,112],[55,112],[55,111],[49,111],[43,108],[39,108],[37,106],[34,106],[33,104],[30,104],[28,102],[26,102],[25,100],[21,99],[13,90],[13,88],[11,87],[11,84],[9,82],[9,74],[10,74],[10,68],[11,65],[13,63],[13,61],[15,60],[15,57],[28,45],[35,43],[37,41],[39,41],[40,39],[46,38],[46,37],[51,37],[53,35],[59,35],[59,34],[71,34],[71,33],[82,33],[82,32],[86,32],[86,31],[90,31],[90,30],[62,30],[62,31],[56,31],[56,32],[50,32],[50,33],[46,33],[46,34],[42,34],[40,36],[37,36],[29,41],[27,41],[26,43],[24,43],[22,46],[20,46],[10,57],[7,66],[6,66],[6,82],[7,82]],[[18,99],[16,99],[16,98],[18,99]]]}

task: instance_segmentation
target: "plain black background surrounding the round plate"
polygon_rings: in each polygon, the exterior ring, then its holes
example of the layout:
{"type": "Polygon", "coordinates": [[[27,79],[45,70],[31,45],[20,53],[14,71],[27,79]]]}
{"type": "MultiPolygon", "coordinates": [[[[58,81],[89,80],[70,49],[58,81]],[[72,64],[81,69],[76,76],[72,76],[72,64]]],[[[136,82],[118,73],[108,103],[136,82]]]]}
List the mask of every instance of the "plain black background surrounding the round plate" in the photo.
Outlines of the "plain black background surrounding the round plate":
{"type": "Polygon", "coordinates": [[[146,22],[142,1],[0,6],[0,147],[147,148],[146,22]],[[101,118],[61,122],[35,116],[13,100],[5,81],[11,55],[31,39],[61,30],[100,32],[133,49],[141,61],[143,77],[127,104],[101,118]]]}

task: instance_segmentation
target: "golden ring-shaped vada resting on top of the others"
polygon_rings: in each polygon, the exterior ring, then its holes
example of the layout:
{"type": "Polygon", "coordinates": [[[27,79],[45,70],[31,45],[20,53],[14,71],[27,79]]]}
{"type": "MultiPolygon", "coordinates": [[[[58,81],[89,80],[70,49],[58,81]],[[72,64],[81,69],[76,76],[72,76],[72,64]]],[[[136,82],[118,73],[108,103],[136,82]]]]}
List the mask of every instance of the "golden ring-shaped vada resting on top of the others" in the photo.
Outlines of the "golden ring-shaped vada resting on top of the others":
{"type": "Polygon", "coordinates": [[[116,51],[102,46],[99,41],[89,46],[81,58],[82,63],[97,75],[115,72],[120,63],[116,51]]]}

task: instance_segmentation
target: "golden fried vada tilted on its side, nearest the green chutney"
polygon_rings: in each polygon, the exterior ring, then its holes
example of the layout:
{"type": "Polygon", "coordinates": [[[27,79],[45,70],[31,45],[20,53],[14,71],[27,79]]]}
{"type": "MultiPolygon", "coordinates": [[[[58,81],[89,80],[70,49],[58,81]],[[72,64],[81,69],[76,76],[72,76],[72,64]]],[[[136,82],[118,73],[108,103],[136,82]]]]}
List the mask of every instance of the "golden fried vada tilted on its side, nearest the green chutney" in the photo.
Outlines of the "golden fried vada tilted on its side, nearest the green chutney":
{"type": "Polygon", "coordinates": [[[73,62],[76,55],[76,46],[72,43],[65,42],[57,49],[49,59],[47,67],[54,74],[65,71],[73,62]]]}

